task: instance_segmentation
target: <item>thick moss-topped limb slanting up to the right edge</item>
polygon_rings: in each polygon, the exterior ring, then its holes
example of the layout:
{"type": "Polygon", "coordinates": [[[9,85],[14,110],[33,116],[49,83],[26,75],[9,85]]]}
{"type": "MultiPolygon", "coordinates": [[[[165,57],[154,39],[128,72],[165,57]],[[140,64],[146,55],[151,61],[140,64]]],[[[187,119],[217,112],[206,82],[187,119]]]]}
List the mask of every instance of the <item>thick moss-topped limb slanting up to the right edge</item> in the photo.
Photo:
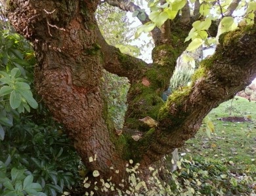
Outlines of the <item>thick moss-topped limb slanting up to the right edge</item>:
{"type": "Polygon", "coordinates": [[[135,151],[146,151],[140,157],[144,164],[182,146],[196,134],[212,108],[233,98],[256,77],[255,26],[226,33],[220,43],[215,54],[203,60],[192,87],[174,92],[161,108],[158,127],[140,141],[143,144],[144,140],[150,140],[150,146],[135,148],[135,151]]]}

